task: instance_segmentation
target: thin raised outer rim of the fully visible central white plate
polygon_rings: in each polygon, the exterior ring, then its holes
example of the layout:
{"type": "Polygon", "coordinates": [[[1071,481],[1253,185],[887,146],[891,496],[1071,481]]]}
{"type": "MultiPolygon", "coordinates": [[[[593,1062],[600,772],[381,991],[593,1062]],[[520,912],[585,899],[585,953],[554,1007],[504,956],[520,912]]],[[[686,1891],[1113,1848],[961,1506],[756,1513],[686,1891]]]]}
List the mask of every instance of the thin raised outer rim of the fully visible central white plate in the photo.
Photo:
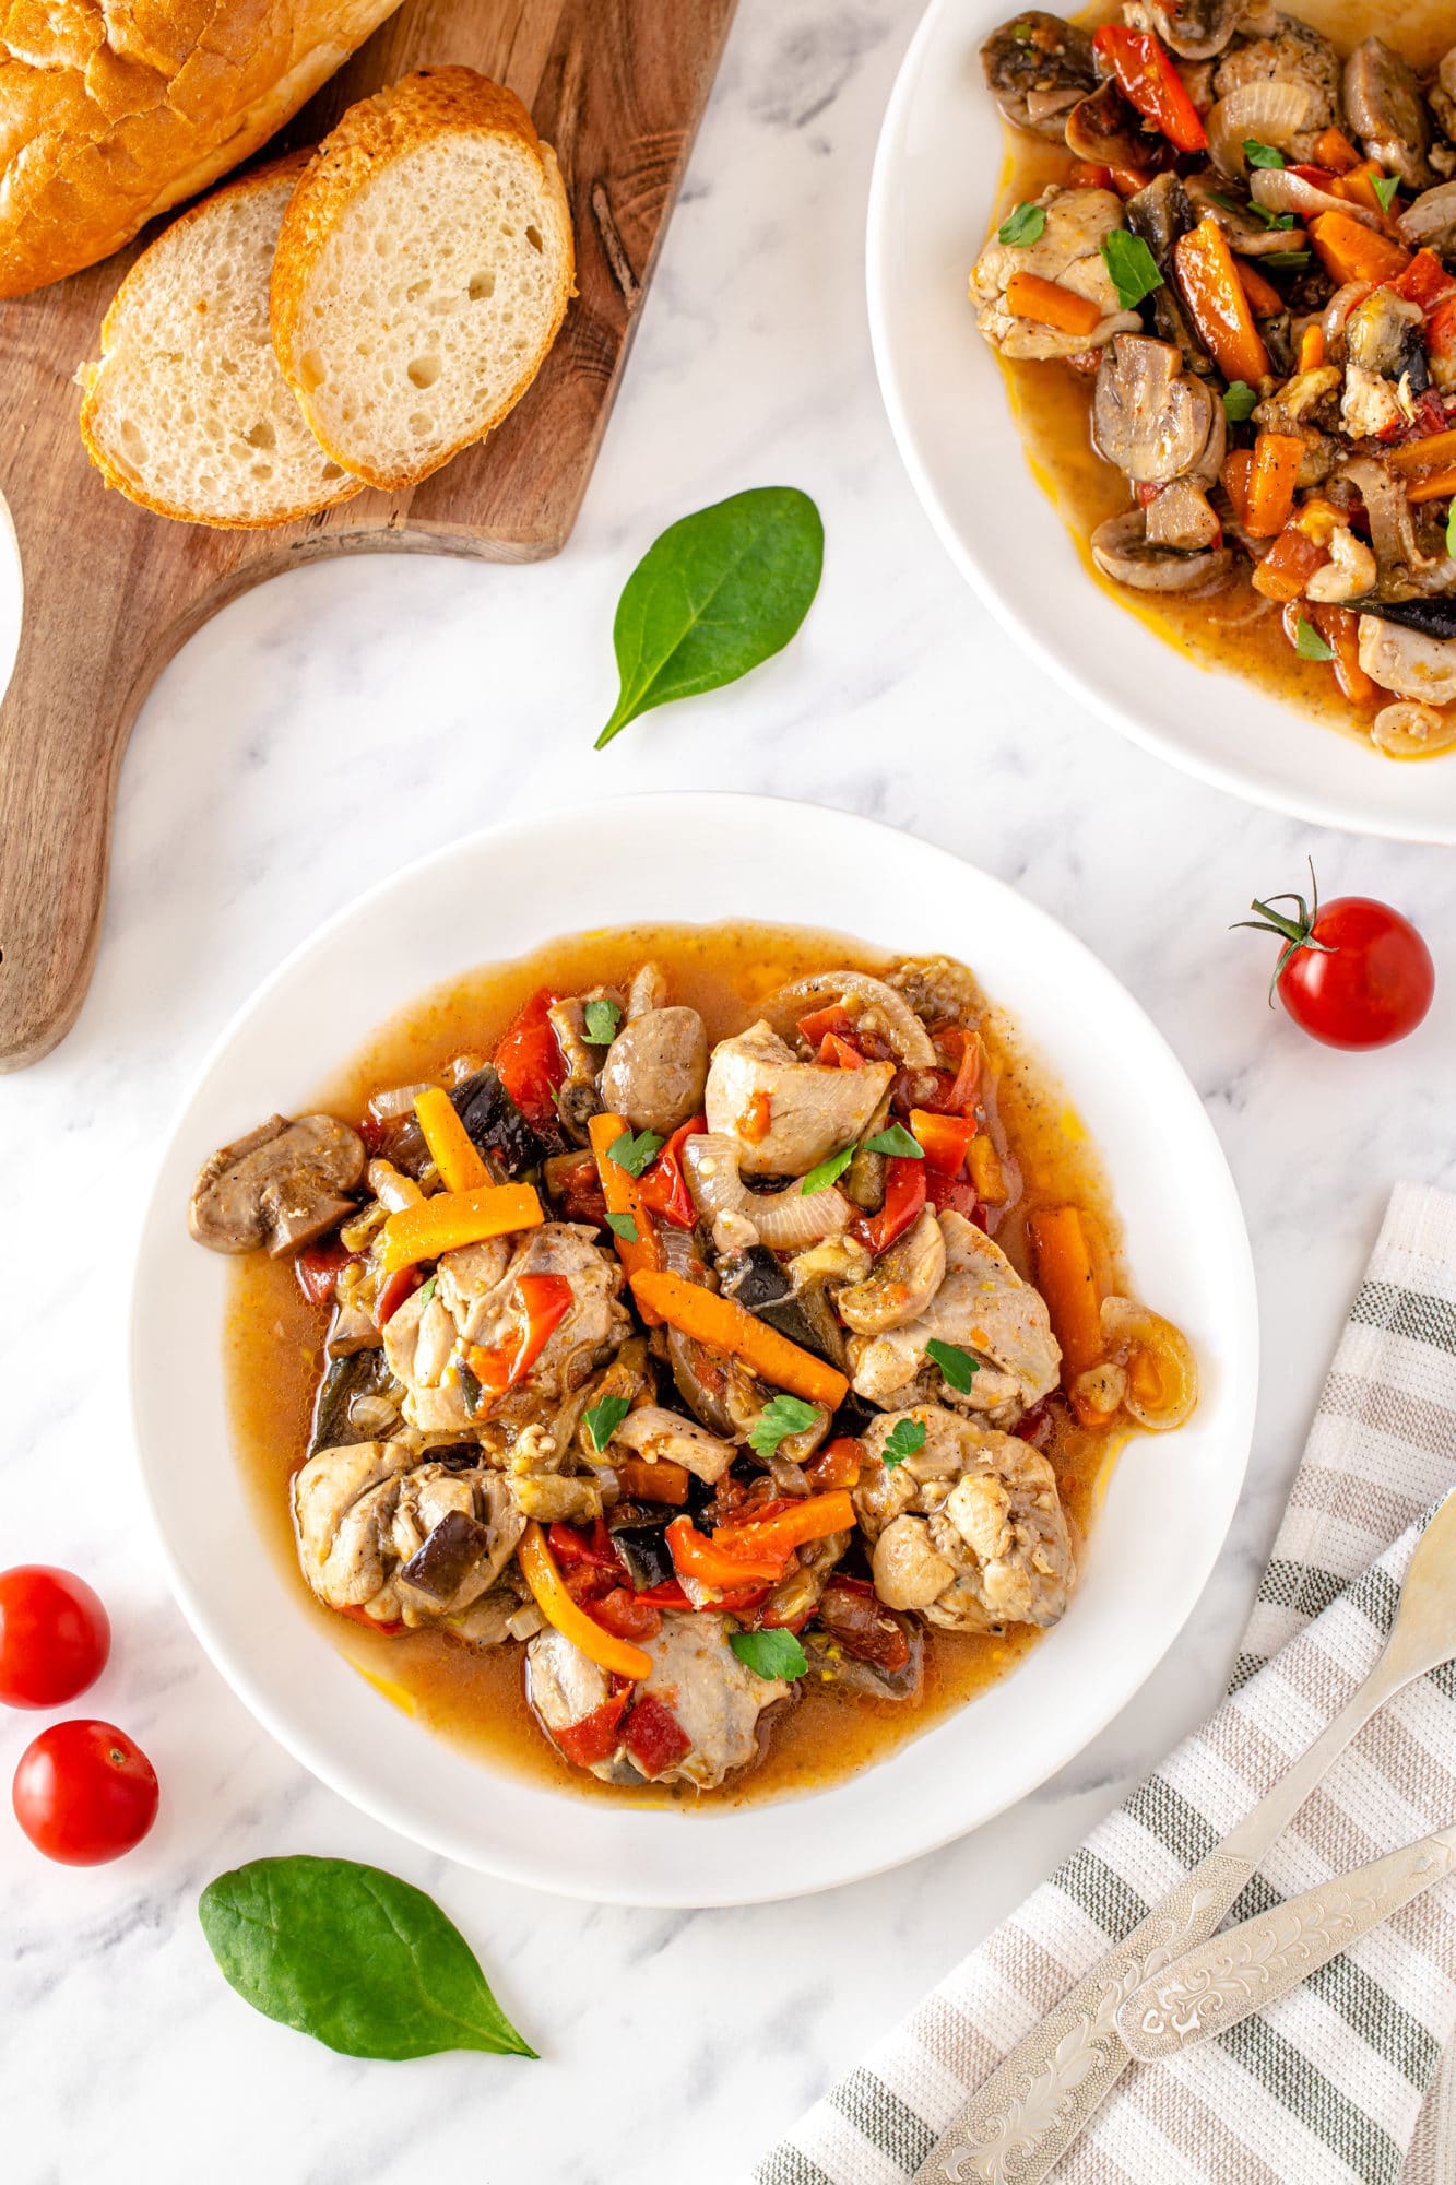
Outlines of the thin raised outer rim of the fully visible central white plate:
{"type": "MultiPolygon", "coordinates": [[[[437,981],[426,981],[418,992],[420,994],[428,992],[431,983],[437,981]]],[[[997,996],[993,996],[993,1001],[995,999],[997,996]]],[[[361,1036],[361,1042],[367,1040],[369,1036],[372,1031],[365,1031],[361,1036]]],[[[1052,1064],[1054,1071],[1058,1068],[1056,1055],[1047,1055],[1045,1060],[1052,1064]]],[[[1117,1202],[1117,1178],[1108,1176],[1108,1182],[1113,1186],[1113,1200],[1117,1202]]],[[[1165,1040],[1163,1031],[1154,1025],[1154,1020],[1148,1016],[1148,1012],[1130,992],[1130,988],[1126,988],[1126,983],[1089,948],[1087,942],[1082,942],[1078,933],[1073,933],[1058,918],[1054,918],[1052,911],[1043,909],[1032,898],[1019,894],[1019,889],[1001,881],[997,874],[986,872],[982,865],[975,865],[971,859],[960,857],[955,850],[947,850],[940,843],[925,841],[909,828],[899,828],[883,819],[870,819],[859,813],[844,811],[842,806],[815,804],[805,798],[776,798],[750,791],[656,789],[656,791],[625,791],[612,798],[579,800],[573,802],[571,806],[547,806],[531,811],[527,815],[498,822],[494,826],[474,828],[468,835],[455,837],[448,843],[439,843],[433,850],[426,850],[424,854],[411,859],[396,872],[374,881],[367,889],[361,889],[348,902],[339,905],[324,920],[319,920],[293,948],[286,950],[280,964],[243,996],[238,1007],[230,1012],[216,1038],[208,1044],[199,1064],[190,1073],[181,1097],[173,1106],[173,1112],[166,1121],[166,1130],[162,1136],[162,1149],[157,1154],[155,1171],[144,1193],[142,1219],[133,1232],[131,1283],[127,1300],[127,1416],[131,1427],[133,1462],[140,1473],[142,1499],[162,1558],[162,1569],[166,1573],[168,1588],[173,1593],[173,1599],[181,1608],[184,1619],[188,1621],[188,1628],[192,1630],[192,1637],[201,1645],[206,1658],[219,1672],[223,1682],[234,1691],[234,1696],[243,1702],[243,1706],[254,1715],[254,1720],[284,1748],[284,1752],[289,1752],[310,1776],[315,1776],[326,1787],[337,1792],[337,1796],[341,1796],[348,1805],[367,1814],[372,1820],[391,1829],[396,1835],[402,1835],[407,1842],[413,1842],[428,1853],[455,1859],[457,1864],[474,1873],[488,1873],[498,1879],[512,1881],[516,1886],[538,1888],[549,1894],[586,1899],[595,1903],[649,1905],[662,1910],[695,1910],[695,1908],[706,1910],[726,1905],[774,1903],[774,1901],[789,1901],[807,1894],[818,1894],[820,1890],[842,1888],[855,1881],[872,1879],[874,1875],[888,1873],[912,1859],[940,1851],[947,1844],[955,1842],[958,1838],[971,1835],[975,1829],[982,1829],[990,1820],[997,1820],[1001,1814],[1006,1814],[1012,1805],[1021,1803],[1023,1798],[1034,1796],[1034,1792],[1045,1781],[1049,1781],[1049,1776],[1054,1776],[1060,1768],[1071,1765],[1078,1759],[1078,1755],[1084,1752],[1087,1746],[1095,1737],[1100,1737],[1102,1731],[1106,1731],[1106,1726],[1137,1698],[1148,1678],[1167,1658],[1167,1654],[1181,1639],[1183,1630],[1187,1628],[1187,1621],[1191,1619],[1194,1608],[1202,1597],[1209,1578],[1213,1575],[1216,1562],[1229,1540],[1233,1516],[1244,1495],[1248,1466],[1253,1457],[1257,1394],[1259,1394],[1257,1280],[1253,1265],[1253,1248],[1248,1239],[1248,1224],[1244,1219],[1244,1208],[1233,1180],[1233,1171],[1229,1167],[1222,1141],[1213,1130],[1213,1121],[1205,1108],[1205,1101],[1198,1095],[1198,1088],[1189,1079],[1187,1071],[1183,1068],[1183,1062],[1174,1053],[1172,1044],[1165,1040]],[[542,1864],[533,1862],[529,1855],[527,1857],[516,1855],[509,1849],[501,1853],[492,1846],[490,1855],[483,1855],[479,1846],[463,1844],[459,1835],[450,1833],[450,1829],[435,1827],[428,1818],[418,1818],[413,1814],[402,1811],[400,1800],[391,1798],[385,1790],[376,1792],[367,1779],[359,1779],[359,1774],[350,1776],[348,1770],[334,1768],[328,1755],[319,1755],[313,1748],[306,1728],[295,1728],[284,1715],[280,1715],[271,1696],[262,1689],[260,1680],[254,1676],[247,1658],[234,1652],[234,1647],[227,1645],[223,1639],[219,1639],[219,1634],[210,1628],[208,1604],[192,1588],[192,1582],[181,1569],[179,1556],[173,1551],[173,1543],[168,1538],[166,1516],[157,1499],[153,1468],[146,1455],[146,1433],[142,1422],[142,1311],[144,1311],[142,1274],[151,1239],[157,1232],[157,1226],[175,1224],[175,1206],[171,1204],[171,1200],[164,1197],[166,1169],[175,1154],[177,1138],[190,1117],[195,1101],[206,1092],[219,1062],[225,1058],[234,1038],[245,1029],[254,1012],[262,1007],[275,994],[278,988],[289,983],[289,979],[315,950],[321,950],[332,937],[345,931],[354,922],[354,918],[359,918],[367,907],[391,896],[396,889],[415,887],[420,878],[428,874],[433,867],[446,865],[448,861],[455,859],[479,857],[485,846],[498,846],[501,841],[512,837],[529,841],[531,837],[538,837],[544,830],[555,830],[560,826],[582,824],[588,819],[599,822],[601,811],[610,806],[636,806],[636,808],[660,811],[673,804],[684,808],[684,813],[695,808],[700,817],[704,817],[702,813],[704,806],[715,806],[721,811],[721,806],[732,804],[739,806],[745,815],[763,811],[763,806],[774,806],[785,813],[805,813],[811,815],[813,819],[831,819],[833,824],[848,826],[850,830],[861,830],[868,837],[877,835],[899,837],[903,843],[914,846],[914,850],[925,859],[929,859],[931,863],[944,865],[949,870],[953,867],[968,870],[979,885],[1006,898],[1014,907],[1012,916],[1017,916],[1019,920],[1030,920],[1034,926],[1049,931],[1060,948],[1069,948],[1073,957],[1084,959],[1084,964],[1091,966],[1102,979],[1111,981],[1122,992],[1130,1009],[1141,1018],[1148,1038],[1163,1051],[1163,1058],[1170,1064],[1174,1079],[1183,1088],[1189,1112],[1198,1117],[1198,1125],[1207,1136],[1211,1173],[1218,1178],[1218,1193],[1226,1202],[1226,1210],[1231,1215],[1229,1235],[1237,1243],[1237,1296],[1226,1300],[1229,1355],[1231,1359],[1242,1361],[1246,1370],[1242,1377],[1242,1385],[1231,1385],[1226,1396],[1229,1446],[1224,1451],[1224,1462],[1231,1464],[1233,1477],[1229,1481],[1226,1514],[1218,1530],[1218,1538],[1209,1545],[1202,1564],[1196,1571],[1196,1584],[1187,1588],[1181,1604],[1181,1615],[1176,1617],[1176,1621],[1170,1623],[1156,1650],[1137,1658],[1137,1663],[1132,1665],[1135,1674],[1126,1685],[1117,1682],[1115,1678],[1108,1678],[1106,1685],[1108,1696],[1097,1698],[1097,1702],[1089,1706],[1087,1717],[1078,1731],[1076,1744],[1069,1750],[1054,1752],[1045,1763],[1036,1759],[1032,1768],[1025,1772],[1025,1781],[1021,1776],[1010,1776],[1010,1787],[1006,1796],[995,1798],[993,1805],[984,1805],[973,1820],[962,1820],[955,1814],[953,1800],[947,1798],[947,1805],[942,1809],[942,1822],[938,1822],[931,1831],[918,1835],[912,1844],[903,1849],[888,1849],[883,1855],[877,1853],[870,1857],[855,1855],[850,1862],[831,1868],[822,1877],[813,1877],[809,1881],[791,1881],[789,1886],[783,1883],[774,1886],[772,1881],[767,1886],[743,1886],[741,1881],[737,1881],[728,1888],[715,1888],[713,1879],[708,1877],[706,1886],[693,1886],[693,1888],[658,1886],[654,1888],[651,1894],[645,1894],[641,1886],[632,1883],[632,1877],[614,1881],[612,1875],[603,1877],[601,1873],[562,1875],[557,1870],[542,1870],[542,1864]]],[[[949,1722],[953,1720],[953,1715],[947,1715],[942,1720],[949,1722]]],[[[931,1724],[927,1733],[920,1735],[934,1735],[936,1728],[938,1724],[931,1724]]],[[[422,1735],[433,1737],[428,1726],[422,1726],[422,1735]]],[[[912,1737],[909,1746],[914,1746],[916,1741],[918,1739],[912,1737]]],[[[442,1739],[442,1744],[448,1744],[448,1739],[442,1739]]],[[[909,1750],[909,1746],[892,1750],[883,1761],[874,1763],[870,1772],[881,1774],[883,1770],[894,1768],[899,1752],[909,1750]]],[[[490,1763],[477,1761],[477,1765],[481,1765],[483,1779],[490,1779],[490,1763]]],[[[846,1781],[853,1781],[853,1776],[846,1781]]],[[[826,1785],[824,1794],[831,1792],[833,1785],[826,1785]]],[[[811,1792],[807,1796],[813,1798],[820,1794],[811,1792]]],[[[807,1798],[789,1796],[763,1807],[750,1805],[745,1809],[724,1809],[713,1816],[693,1814],[682,1818],[686,1820],[689,1827],[702,1831],[704,1853],[711,1853],[715,1842],[711,1831],[730,1827],[735,1811],[743,1811],[748,1816],[789,1814],[805,1803],[807,1798]]],[[[586,1807],[586,1809],[597,1809],[597,1807],[586,1807]]],[[[599,1811],[610,1816],[614,1809],[599,1807],[599,1811]]],[[[708,1857],[704,1857],[702,1864],[706,1866],[708,1857]]]]}

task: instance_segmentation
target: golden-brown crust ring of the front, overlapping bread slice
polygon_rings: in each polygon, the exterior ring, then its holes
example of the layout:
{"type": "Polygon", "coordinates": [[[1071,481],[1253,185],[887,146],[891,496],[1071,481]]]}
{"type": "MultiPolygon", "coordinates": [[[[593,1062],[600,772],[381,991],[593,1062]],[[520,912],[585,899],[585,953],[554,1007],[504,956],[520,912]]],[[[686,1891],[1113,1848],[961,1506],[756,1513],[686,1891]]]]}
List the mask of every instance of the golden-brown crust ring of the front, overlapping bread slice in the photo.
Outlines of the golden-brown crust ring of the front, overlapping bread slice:
{"type": "Polygon", "coordinates": [[[304,168],[284,212],[278,253],[273,258],[269,306],[273,352],[324,452],[343,470],[363,479],[365,485],[402,492],[442,470],[461,448],[474,446],[477,439],[494,430],[516,406],[551,352],[573,295],[575,238],[555,151],[538,138],[536,125],[520,98],[501,83],[477,74],[474,68],[422,68],[413,76],[402,76],[389,90],[376,92],[374,98],[361,98],[359,105],[350,107],[304,168]],[[380,166],[409,155],[420,144],[450,131],[488,131],[490,135],[512,138],[538,162],[547,205],[557,225],[557,282],[551,297],[551,321],[529,367],[477,430],[466,433],[463,439],[457,439],[444,452],[431,454],[426,463],[385,472],[365,463],[356,452],[339,448],[328,433],[328,424],[319,417],[317,404],[308,398],[302,371],[304,302],[328,238],[343,221],[356,194],[367,190],[372,175],[380,166]]]}

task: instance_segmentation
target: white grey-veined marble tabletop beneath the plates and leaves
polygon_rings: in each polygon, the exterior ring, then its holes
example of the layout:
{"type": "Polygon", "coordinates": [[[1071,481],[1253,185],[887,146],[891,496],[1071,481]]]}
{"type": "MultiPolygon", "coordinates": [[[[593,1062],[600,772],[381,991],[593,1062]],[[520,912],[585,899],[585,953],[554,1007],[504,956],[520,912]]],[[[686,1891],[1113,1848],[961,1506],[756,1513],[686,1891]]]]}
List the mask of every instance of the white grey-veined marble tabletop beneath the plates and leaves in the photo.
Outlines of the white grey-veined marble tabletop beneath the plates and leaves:
{"type": "MultiPolygon", "coordinates": [[[[920,518],[861,293],[874,131],[912,28],[905,0],[741,0],[560,562],[300,572],[197,636],[142,712],[90,1003],[59,1053],[0,1082],[0,1562],[72,1564],[105,1595],[116,1652],[85,1706],[142,1739],[164,1809],[138,1855],[92,1873],[48,1866],[0,1820],[0,2174],[15,2185],[737,2178],[1207,1711],[1388,1186],[1456,1173],[1452,852],[1320,835],[1165,771],[1019,662],[920,518]],[[802,638],[592,754],[627,568],[673,516],[770,481],[824,509],[802,638]],[[122,1401],[142,1191],[188,1073],[254,983],[365,881],[466,828],[658,784],[870,813],[1062,918],[1205,1095],[1264,1313],[1248,1490],[1137,1704],[949,1851],[748,1912],[503,1888],[321,1790],[173,1608],[122,1401]],[[1342,1058],[1264,1007],[1268,950],[1226,924],[1255,889],[1299,885],[1307,852],[1327,894],[1390,894],[1430,935],[1439,999],[1410,1044],[1342,1058]],[[282,1851],[374,1859],[433,1890],[544,2060],[365,2065],[249,2012],[195,1901],[221,1868],[282,1851]]],[[[33,1728],[0,1722],[7,1772],[33,1728]]]]}

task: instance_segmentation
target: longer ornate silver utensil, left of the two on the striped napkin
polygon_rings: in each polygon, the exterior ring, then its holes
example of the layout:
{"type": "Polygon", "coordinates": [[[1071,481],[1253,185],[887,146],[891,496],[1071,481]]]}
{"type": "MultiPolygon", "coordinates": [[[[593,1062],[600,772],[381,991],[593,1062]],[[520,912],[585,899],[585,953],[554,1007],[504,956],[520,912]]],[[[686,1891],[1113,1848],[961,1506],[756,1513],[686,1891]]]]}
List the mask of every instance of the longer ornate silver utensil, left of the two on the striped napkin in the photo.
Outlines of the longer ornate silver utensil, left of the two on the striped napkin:
{"type": "Polygon", "coordinates": [[[1216,1851],[1006,2056],[955,2113],[914,2185],[1038,2185],[1132,2063],[1117,2012],[1205,1942],[1270,1844],[1386,1700],[1456,1656],[1456,1492],[1417,1543],[1395,1626],[1364,1685],[1216,1851]]]}

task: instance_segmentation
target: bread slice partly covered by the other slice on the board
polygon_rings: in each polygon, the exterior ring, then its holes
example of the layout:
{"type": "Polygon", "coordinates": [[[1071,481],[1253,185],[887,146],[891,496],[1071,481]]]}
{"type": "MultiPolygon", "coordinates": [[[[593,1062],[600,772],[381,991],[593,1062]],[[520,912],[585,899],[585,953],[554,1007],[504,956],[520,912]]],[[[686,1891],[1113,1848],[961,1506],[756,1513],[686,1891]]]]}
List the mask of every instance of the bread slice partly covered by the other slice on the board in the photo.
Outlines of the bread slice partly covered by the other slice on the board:
{"type": "Polygon", "coordinates": [[[192,524],[286,524],[356,494],[269,339],[273,247],[306,153],[216,190],[142,251],[83,365],[81,437],[107,485],[192,524]]]}

